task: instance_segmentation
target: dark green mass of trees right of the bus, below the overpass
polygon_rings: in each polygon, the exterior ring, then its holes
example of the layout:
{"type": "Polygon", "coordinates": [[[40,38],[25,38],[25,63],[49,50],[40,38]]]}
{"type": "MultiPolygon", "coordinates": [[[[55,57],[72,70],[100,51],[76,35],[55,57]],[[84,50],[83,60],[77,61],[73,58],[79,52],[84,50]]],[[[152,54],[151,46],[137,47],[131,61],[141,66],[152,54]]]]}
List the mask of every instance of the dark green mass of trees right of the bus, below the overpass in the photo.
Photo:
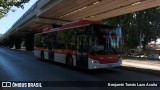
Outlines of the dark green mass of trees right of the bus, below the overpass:
{"type": "Polygon", "coordinates": [[[160,7],[134,12],[118,17],[105,19],[109,25],[120,25],[123,30],[123,47],[126,49],[136,48],[160,37],[160,7]]]}

